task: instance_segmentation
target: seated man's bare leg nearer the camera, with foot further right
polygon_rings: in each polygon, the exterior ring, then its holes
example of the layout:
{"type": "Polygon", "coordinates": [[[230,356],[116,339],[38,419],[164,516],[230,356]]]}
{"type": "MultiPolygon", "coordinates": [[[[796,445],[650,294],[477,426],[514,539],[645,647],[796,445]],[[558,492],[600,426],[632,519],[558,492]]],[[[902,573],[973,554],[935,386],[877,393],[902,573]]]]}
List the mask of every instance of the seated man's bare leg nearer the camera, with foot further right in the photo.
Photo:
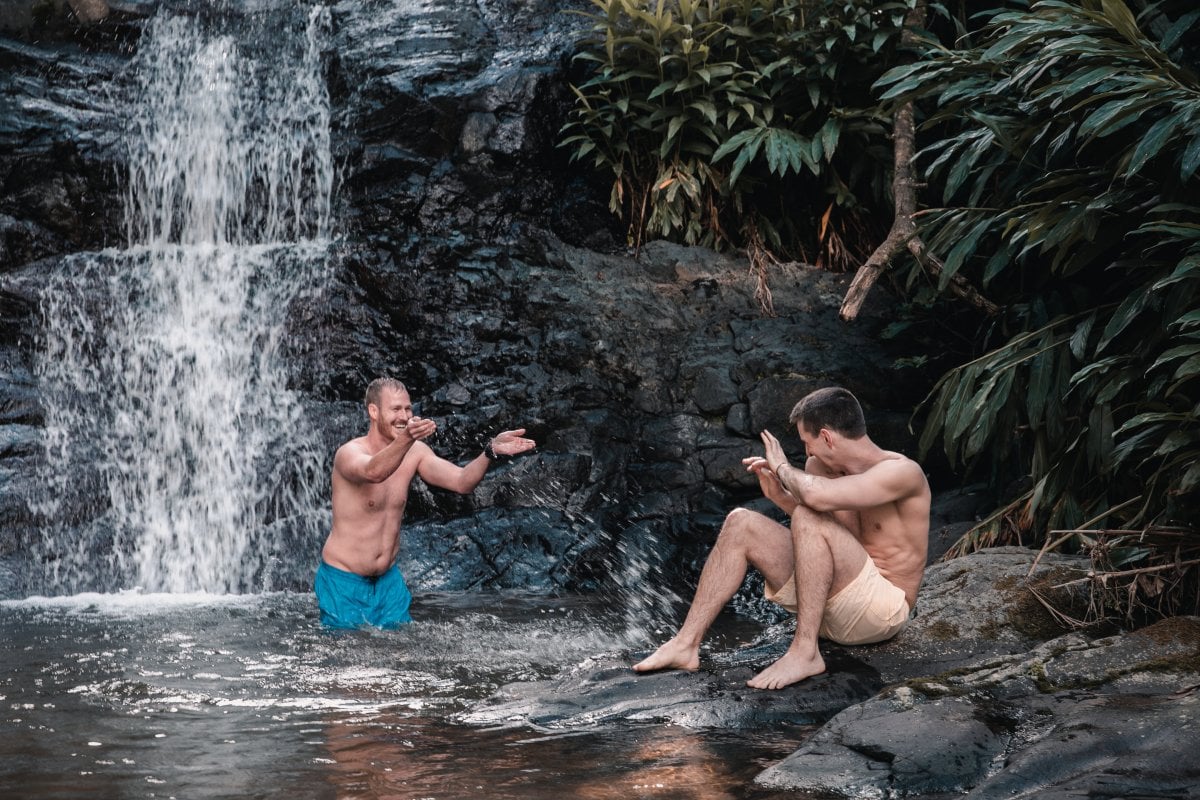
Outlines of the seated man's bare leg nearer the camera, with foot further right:
{"type": "Polygon", "coordinates": [[[792,515],[796,558],[796,636],[787,652],[752,679],[754,688],[782,688],[824,672],[817,631],[826,601],[863,569],[866,551],[832,516],[799,506],[792,515]]]}

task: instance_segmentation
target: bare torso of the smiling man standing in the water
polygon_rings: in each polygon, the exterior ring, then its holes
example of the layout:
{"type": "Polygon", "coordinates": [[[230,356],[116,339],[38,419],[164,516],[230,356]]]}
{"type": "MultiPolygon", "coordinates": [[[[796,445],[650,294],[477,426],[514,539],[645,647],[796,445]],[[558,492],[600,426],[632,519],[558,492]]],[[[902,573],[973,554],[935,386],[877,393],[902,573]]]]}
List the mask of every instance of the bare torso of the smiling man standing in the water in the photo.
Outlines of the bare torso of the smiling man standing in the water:
{"type": "MultiPolygon", "coordinates": [[[[366,437],[342,446],[365,449],[366,437]]],[[[400,553],[400,529],[420,447],[425,445],[414,444],[400,468],[379,483],[348,480],[335,458],[334,524],[322,551],[326,564],[362,576],[382,575],[391,567],[400,553]]]]}

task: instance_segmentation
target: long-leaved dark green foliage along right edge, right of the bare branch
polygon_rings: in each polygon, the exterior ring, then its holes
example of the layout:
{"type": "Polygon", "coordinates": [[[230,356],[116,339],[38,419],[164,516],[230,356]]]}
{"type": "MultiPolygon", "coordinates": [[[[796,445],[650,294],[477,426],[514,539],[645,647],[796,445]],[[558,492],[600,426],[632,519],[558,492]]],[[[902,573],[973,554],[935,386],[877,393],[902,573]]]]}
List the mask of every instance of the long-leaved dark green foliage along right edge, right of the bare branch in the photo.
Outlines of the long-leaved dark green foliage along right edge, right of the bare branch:
{"type": "Polygon", "coordinates": [[[922,161],[943,205],[920,229],[943,285],[967,270],[1007,303],[986,350],[942,378],[923,438],[1027,476],[967,543],[1049,531],[1127,578],[1127,610],[1162,609],[1166,576],[1194,603],[1200,555],[1177,530],[1200,488],[1200,11],[1186,5],[1037,2],[880,82],[930,109],[922,161]]]}

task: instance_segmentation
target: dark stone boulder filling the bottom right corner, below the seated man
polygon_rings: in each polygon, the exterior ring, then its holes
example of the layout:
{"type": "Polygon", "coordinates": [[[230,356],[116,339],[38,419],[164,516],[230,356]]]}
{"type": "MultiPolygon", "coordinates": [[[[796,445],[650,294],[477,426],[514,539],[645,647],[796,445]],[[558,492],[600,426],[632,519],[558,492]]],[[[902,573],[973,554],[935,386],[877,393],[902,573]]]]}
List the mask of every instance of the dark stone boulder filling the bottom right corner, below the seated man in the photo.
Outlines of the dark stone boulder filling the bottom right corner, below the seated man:
{"type": "Polygon", "coordinates": [[[1200,796],[1200,619],[890,687],[758,776],[822,796],[1200,796]]]}

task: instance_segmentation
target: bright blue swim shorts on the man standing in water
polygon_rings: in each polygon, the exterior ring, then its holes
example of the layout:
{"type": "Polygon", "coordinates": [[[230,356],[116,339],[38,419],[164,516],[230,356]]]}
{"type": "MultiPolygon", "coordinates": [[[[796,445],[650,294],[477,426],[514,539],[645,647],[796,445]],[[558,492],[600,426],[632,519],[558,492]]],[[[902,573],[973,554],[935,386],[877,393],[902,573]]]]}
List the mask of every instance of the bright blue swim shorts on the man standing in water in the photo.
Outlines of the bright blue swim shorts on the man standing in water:
{"type": "Polygon", "coordinates": [[[396,627],[413,621],[408,614],[413,595],[396,565],[383,575],[365,577],[322,561],[312,588],[320,621],[330,627],[396,627]]]}

